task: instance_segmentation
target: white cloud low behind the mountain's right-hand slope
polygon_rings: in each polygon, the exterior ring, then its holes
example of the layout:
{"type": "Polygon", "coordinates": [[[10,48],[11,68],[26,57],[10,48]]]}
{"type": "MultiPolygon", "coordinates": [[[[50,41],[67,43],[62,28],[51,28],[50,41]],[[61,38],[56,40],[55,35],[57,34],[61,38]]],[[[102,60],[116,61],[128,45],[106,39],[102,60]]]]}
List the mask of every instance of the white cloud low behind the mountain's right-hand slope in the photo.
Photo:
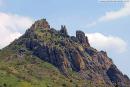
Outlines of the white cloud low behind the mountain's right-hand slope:
{"type": "Polygon", "coordinates": [[[86,33],[90,44],[98,50],[123,53],[127,49],[127,43],[115,36],[105,36],[101,33],[86,33]]]}

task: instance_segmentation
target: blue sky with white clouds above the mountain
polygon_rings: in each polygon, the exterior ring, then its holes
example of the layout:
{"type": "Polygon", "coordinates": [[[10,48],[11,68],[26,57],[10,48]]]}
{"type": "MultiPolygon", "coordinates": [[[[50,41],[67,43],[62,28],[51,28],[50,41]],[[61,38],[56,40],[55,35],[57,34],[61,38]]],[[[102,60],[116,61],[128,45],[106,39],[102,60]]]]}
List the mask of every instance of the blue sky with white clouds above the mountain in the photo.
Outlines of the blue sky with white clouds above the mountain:
{"type": "Polygon", "coordinates": [[[130,77],[130,1],[104,1],[0,0],[0,48],[24,34],[34,21],[46,18],[57,30],[66,25],[70,35],[84,31],[91,46],[107,51],[130,77]]]}

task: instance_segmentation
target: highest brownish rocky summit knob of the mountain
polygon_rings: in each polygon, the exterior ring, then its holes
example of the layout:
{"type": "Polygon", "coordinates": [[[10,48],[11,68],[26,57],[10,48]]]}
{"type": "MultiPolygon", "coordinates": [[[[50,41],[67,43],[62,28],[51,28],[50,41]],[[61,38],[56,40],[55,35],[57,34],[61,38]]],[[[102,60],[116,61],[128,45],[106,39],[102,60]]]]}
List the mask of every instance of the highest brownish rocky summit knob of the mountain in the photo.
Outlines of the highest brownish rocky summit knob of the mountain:
{"type": "Polygon", "coordinates": [[[49,29],[50,25],[49,23],[46,21],[46,19],[41,19],[36,21],[32,26],[31,29],[49,29]]]}

